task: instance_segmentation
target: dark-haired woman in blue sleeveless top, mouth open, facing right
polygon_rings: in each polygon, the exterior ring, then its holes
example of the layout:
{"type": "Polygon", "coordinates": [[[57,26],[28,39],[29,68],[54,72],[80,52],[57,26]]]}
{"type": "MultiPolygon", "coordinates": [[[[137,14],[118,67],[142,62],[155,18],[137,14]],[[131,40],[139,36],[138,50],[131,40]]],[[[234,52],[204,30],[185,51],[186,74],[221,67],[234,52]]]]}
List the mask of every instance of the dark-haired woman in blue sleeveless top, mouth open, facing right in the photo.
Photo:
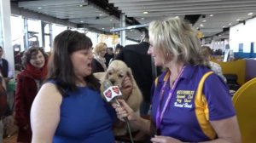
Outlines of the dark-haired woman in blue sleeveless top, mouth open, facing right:
{"type": "MultiPolygon", "coordinates": [[[[55,37],[49,78],[32,105],[33,143],[114,142],[114,112],[91,73],[91,46],[90,38],[78,31],[55,37]]],[[[131,80],[126,82],[125,89],[131,90],[131,80]]]]}

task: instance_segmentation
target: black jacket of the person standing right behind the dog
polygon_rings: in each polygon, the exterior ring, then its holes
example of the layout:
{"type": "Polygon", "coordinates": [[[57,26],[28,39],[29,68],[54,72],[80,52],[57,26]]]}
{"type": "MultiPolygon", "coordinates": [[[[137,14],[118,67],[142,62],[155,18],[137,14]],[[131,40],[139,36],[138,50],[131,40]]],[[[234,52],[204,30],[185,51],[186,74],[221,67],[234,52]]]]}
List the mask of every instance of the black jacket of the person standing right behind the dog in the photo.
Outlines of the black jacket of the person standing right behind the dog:
{"type": "Polygon", "coordinates": [[[114,60],[123,60],[131,68],[132,74],[143,94],[143,100],[150,103],[152,76],[151,56],[148,54],[149,43],[126,45],[114,60]]]}

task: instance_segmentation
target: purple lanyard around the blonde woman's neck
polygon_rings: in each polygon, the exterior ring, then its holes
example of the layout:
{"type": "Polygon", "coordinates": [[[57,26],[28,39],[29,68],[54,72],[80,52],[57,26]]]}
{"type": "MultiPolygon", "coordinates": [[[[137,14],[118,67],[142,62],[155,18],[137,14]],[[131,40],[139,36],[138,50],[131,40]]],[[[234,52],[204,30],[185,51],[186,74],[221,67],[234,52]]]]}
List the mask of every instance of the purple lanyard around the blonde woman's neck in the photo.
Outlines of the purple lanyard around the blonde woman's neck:
{"type": "MultiPolygon", "coordinates": [[[[172,89],[169,91],[169,94],[167,96],[167,99],[166,99],[166,103],[165,103],[165,106],[163,107],[163,110],[160,112],[160,103],[161,103],[161,100],[163,98],[163,94],[164,94],[164,91],[166,89],[166,84],[167,82],[169,81],[168,79],[166,80],[166,82],[164,83],[164,85],[162,86],[161,90],[160,90],[160,100],[159,100],[159,106],[157,108],[157,112],[156,112],[156,129],[160,129],[160,124],[162,122],[162,119],[163,119],[163,116],[164,116],[164,113],[166,112],[166,108],[167,106],[169,105],[170,103],[170,100],[172,99],[172,94],[174,92],[174,90],[176,89],[176,86],[177,86],[177,82],[179,81],[182,73],[183,73],[183,70],[184,70],[184,66],[183,66],[183,69],[181,70],[181,72],[179,72],[179,75],[177,76],[177,79],[175,80],[175,82],[173,83],[172,85],[172,89]]],[[[171,74],[170,74],[171,75],[171,74]]],[[[169,75],[169,77],[170,77],[169,75]]]]}

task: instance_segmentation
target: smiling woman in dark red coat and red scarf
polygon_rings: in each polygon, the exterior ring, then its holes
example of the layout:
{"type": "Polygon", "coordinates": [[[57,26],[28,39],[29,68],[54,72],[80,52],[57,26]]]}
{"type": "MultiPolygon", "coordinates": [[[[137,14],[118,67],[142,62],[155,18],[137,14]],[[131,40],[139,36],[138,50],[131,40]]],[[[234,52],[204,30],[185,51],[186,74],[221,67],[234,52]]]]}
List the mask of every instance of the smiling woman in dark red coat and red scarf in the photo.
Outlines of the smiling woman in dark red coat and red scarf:
{"type": "Polygon", "coordinates": [[[15,91],[15,123],[19,128],[17,142],[32,141],[30,110],[47,76],[47,59],[44,49],[38,47],[26,49],[22,56],[22,65],[25,69],[17,75],[15,91]]]}

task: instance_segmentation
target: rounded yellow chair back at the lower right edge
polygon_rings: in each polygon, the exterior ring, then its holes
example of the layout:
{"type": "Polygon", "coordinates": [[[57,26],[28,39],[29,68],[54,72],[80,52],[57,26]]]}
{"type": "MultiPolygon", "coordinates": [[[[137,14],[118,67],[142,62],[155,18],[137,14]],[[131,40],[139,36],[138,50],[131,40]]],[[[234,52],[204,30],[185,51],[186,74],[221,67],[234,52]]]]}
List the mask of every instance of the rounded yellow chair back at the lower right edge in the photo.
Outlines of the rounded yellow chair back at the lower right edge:
{"type": "Polygon", "coordinates": [[[243,84],[233,98],[242,143],[256,141],[256,78],[243,84]]]}

